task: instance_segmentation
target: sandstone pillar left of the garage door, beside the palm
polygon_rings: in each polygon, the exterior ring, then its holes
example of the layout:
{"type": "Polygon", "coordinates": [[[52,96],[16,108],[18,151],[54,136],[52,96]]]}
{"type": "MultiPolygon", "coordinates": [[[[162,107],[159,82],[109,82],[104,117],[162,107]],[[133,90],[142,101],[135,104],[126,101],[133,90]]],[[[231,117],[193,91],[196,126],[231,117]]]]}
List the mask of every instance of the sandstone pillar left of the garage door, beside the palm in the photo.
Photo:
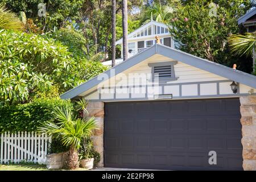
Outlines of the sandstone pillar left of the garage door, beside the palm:
{"type": "Polygon", "coordinates": [[[85,114],[87,118],[95,117],[98,129],[94,132],[93,144],[94,149],[100,153],[101,160],[98,163],[98,167],[103,167],[104,154],[103,154],[103,134],[104,134],[104,102],[89,102],[87,106],[88,114],[85,114]]]}

